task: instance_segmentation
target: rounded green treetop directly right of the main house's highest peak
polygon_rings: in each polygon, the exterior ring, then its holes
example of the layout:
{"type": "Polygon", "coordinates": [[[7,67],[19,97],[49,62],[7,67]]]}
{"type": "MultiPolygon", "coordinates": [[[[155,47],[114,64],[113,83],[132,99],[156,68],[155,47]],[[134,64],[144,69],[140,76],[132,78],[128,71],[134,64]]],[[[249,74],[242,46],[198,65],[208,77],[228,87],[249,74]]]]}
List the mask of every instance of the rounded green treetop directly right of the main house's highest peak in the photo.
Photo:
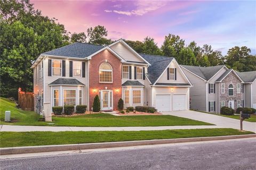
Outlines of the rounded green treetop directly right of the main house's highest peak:
{"type": "Polygon", "coordinates": [[[154,38],[146,37],[143,41],[142,53],[161,55],[161,51],[157,44],[154,42],[154,38]]]}

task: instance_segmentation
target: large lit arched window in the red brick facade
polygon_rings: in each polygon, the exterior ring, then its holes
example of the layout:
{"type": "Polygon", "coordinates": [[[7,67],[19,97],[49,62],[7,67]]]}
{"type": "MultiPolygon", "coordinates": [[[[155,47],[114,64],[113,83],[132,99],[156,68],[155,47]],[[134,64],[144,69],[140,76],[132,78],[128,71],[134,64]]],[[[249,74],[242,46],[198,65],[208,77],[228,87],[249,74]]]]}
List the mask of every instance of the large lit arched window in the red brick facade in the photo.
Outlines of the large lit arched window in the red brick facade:
{"type": "Polygon", "coordinates": [[[112,67],[108,63],[102,63],[99,70],[100,83],[112,83],[112,67]]]}

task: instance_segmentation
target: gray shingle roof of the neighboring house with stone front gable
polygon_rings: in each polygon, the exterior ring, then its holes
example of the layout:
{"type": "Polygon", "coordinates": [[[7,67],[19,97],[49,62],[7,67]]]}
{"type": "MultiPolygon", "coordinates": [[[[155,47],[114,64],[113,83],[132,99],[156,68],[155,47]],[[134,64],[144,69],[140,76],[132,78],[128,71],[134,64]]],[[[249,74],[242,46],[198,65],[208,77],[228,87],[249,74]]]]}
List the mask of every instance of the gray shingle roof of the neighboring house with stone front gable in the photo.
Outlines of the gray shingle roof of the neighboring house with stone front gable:
{"type": "Polygon", "coordinates": [[[225,65],[220,66],[211,66],[211,67],[198,67],[198,66],[186,66],[186,65],[180,65],[187,70],[193,72],[197,76],[209,80],[211,79],[221,68],[225,67],[225,65]]]}

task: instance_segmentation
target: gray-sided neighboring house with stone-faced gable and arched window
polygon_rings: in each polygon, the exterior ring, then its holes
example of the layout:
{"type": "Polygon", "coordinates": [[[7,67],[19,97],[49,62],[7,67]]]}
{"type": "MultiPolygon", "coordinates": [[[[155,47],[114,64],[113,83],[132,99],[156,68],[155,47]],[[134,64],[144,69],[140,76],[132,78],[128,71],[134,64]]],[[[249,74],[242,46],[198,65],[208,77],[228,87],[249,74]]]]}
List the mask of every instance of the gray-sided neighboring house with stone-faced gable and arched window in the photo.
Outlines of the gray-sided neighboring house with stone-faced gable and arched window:
{"type": "Polygon", "coordinates": [[[193,87],[190,108],[220,113],[223,106],[237,109],[244,106],[243,80],[226,66],[197,67],[181,65],[193,87]]]}

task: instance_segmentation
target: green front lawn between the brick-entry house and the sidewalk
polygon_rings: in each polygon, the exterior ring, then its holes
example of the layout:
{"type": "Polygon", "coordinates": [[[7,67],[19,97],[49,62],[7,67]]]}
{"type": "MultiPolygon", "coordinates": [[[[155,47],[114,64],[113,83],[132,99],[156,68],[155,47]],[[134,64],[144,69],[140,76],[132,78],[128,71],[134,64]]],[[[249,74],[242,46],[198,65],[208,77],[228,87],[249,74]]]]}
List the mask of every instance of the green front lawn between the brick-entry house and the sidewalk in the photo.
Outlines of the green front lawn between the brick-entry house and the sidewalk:
{"type": "Polygon", "coordinates": [[[1,124],[34,125],[34,126],[94,126],[94,127],[122,127],[122,126],[181,126],[181,125],[212,125],[197,120],[181,118],[171,115],[142,115],[142,116],[113,116],[110,114],[91,114],[74,117],[52,117],[54,125],[38,121],[40,116],[34,111],[23,111],[15,108],[14,102],[0,99],[1,124]],[[11,111],[13,123],[4,122],[5,110],[11,111]]]}

